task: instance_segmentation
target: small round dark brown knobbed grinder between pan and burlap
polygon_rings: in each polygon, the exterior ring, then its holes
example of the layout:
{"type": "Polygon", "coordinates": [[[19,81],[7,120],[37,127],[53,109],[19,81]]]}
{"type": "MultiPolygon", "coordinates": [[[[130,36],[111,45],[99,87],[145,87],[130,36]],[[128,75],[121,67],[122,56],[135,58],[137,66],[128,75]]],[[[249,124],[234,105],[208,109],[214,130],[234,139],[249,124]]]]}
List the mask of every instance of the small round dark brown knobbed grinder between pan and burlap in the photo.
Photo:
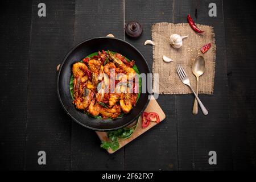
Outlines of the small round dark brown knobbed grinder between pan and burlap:
{"type": "Polygon", "coordinates": [[[128,22],[125,25],[125,33],[131,38],[138,38],[142,34],[141,23],[137,21],[128,22]]]}

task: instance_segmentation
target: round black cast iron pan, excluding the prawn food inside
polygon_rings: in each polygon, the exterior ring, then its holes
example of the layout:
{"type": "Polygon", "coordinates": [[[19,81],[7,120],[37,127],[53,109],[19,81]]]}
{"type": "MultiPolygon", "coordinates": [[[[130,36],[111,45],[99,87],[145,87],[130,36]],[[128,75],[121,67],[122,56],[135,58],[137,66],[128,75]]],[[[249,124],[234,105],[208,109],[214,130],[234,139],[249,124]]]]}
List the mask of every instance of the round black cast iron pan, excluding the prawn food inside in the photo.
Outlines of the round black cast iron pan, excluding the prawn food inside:
{"type": "Polygon", "coordinates": [[[90,117],[82,111],[77,110],[75,105],[72,104],[72,98],[69,92],[72,65],[77,61],[80,61],[85,56],[101,50],[110,50],[121,53],[128,59],[135,60],[135,64],[137,65],[140,73],[151,73],[144,56],[131,44],[117,38],[92,38],[77,44],[77,46],[72,48],[64,57],[57,76],[57,96],[59,97],[64,110],[80,125],[97,131],[117,130],[129,125],[131,122],[135,121],[139,115],[141,115],[142,111],[146,109],[149,101],[148,93],[142,93],[137,105],[130,111],[130,113],[124,115],[124,117],[114,120],[102,120],[90,117]]]}

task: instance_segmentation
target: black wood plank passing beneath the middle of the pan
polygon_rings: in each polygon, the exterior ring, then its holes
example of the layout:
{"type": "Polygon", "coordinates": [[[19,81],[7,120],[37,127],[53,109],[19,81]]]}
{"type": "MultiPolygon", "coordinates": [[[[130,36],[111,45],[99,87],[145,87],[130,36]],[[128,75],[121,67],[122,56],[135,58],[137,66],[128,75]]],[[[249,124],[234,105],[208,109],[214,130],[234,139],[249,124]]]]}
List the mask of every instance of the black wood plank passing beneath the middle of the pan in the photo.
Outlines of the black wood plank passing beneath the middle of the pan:
{"type": "MultiPolygon", "coordinates": [[[[122,1],[76,1],[75,43],[113,34],[123,38],[122,1]]],[[[95,131],[72,123],[72,169],[122,170],[123,149],[109,155],[95,131]]]]}

